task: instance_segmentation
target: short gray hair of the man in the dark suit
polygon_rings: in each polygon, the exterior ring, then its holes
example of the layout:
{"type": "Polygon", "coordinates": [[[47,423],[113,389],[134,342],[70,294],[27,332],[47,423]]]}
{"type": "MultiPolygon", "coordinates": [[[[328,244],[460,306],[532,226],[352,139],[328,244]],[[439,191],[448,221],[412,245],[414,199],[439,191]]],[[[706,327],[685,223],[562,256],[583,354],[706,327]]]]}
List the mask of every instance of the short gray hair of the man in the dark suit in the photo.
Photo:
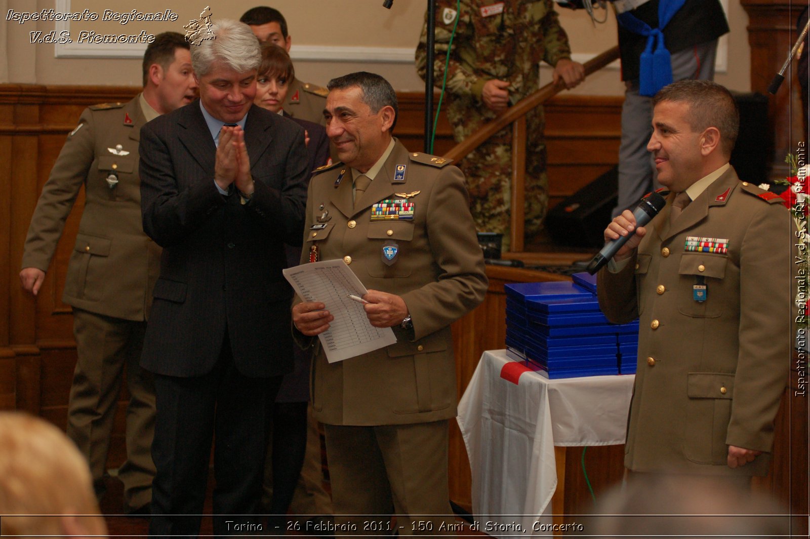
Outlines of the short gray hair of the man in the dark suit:
{"type": "Polygon", "coordinates": [[[258,69],[262,52],[258,39],[247,24],[220,19],[211,24],[211,32],[214,39],[191,45],[191,66],[198,77],[207,75],[217,60],[237,73],[258,69]]]}

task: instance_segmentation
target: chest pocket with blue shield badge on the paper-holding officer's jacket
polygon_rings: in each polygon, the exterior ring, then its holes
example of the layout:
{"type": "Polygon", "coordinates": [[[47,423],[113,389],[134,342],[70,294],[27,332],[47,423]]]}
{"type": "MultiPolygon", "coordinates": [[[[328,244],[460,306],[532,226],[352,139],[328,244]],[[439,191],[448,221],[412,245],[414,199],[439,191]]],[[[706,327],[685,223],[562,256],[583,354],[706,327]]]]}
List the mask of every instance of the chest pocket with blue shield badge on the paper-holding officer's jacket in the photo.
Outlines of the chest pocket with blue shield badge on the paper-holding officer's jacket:
{"type": "Polygon", "coordinates": [[[369,246],[377,250],[366,267],[369,276],[381,279],[411,275],[408,255],[413,239],[412,220],[390,220],[369,223],[369,246]]]}

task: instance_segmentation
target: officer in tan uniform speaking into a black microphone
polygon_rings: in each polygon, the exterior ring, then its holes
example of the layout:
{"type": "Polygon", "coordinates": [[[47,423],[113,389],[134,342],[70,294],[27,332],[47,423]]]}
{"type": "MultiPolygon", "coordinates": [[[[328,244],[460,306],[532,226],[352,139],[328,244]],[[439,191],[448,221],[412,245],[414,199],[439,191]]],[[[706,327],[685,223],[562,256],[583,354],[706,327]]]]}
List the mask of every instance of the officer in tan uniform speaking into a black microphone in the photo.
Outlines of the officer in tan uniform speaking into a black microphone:
{"type": "Polygon", "coordinates": [[[726,88],[682,80],[653,102],[647,149],[671,194],[646,227],[629,211],[608,225],[606,241],[636,233],[598,276],[608,319],[640,319],[625,466],[743,486],[768,472],[790,366],[795,228],[728,163],[739,117],[726,88]]]}

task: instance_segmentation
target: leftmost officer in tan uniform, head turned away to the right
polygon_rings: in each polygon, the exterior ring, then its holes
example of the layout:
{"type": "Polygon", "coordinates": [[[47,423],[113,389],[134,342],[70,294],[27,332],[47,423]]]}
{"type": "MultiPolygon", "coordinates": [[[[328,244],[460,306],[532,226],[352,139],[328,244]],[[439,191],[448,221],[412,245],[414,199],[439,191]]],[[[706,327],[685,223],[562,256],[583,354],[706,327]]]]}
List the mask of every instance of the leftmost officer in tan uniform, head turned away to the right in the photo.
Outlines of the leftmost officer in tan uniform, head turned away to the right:
{"type": "Polygon", "coordinates": [[[151,376],[139,366],[160,248],[141,225],[138,143],[141,126],[194,100],[189,45],[177,32],[156,36],[143,58],[143,92],[131,101],[84,110],[40,195],[26,238],[23,289],[36,296],[65,220],[84,186],[85,204],[62,301],[73,306],[78,360],[70,388],[67,435],[87,458],[104,493],[116,404],[126,369],[124,509],[151,500],[150,447],[155,420],[151,376]]]}

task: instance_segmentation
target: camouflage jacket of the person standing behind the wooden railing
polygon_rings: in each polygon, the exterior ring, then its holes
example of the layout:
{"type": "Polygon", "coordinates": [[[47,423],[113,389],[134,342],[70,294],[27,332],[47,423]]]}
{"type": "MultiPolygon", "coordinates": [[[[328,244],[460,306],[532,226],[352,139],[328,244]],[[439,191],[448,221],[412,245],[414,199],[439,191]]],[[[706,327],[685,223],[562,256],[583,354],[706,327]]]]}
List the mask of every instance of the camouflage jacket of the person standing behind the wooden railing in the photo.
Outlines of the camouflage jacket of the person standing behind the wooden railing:
{"type": "MultiPolygon", "coordinates": [[[[435,83],[441,88],[447,48],[454,24],[458,28],[450,51],[447,89],[480,99],[490,79],[509,80],[513,104],[539,88],[539,62],[551,66],[570,58],[568,36],[560,26],[552,0],[437,0],[435,83]]],[[[416,48],[416,70],[425,76],[427,15],[416,48]]]]}

